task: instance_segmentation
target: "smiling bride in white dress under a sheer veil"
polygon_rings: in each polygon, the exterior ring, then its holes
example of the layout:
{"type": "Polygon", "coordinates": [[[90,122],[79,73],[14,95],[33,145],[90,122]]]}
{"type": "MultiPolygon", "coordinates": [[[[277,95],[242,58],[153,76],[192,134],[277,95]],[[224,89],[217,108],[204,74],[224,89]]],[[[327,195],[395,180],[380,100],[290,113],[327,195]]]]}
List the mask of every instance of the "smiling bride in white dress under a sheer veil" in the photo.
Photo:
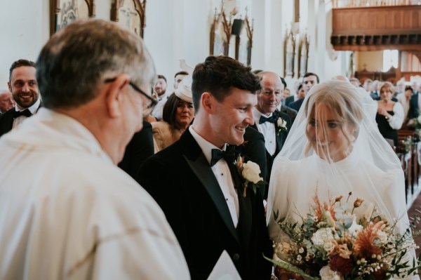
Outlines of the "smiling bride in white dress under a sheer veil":
{"type": "MultiPolygon", "coordinates": [[[[283,149],[276,156],[267,199],[272,240],[282,238],[274,213],[301,220],[313,197],[357,197],[370,203],[403,233],[409,226],[401,163],[380,135],[373,101],[346,81],[316,85],[305,97],[283,149]]],[[[408,253],[415,258],[415,251],[408,253]]],[[[418,276],[408,279],[419,279],[418,276]]]]}

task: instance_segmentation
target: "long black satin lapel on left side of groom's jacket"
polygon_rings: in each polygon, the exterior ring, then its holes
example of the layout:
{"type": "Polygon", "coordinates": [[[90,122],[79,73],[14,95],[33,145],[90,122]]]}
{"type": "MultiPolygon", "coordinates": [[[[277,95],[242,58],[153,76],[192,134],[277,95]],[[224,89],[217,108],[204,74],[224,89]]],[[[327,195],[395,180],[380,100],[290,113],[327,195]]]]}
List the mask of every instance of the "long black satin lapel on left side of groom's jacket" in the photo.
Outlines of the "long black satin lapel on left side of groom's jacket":
{"type": "Polygon", "coordinates": [[[222,194],[218,180],[216,180],[205,155],[201,152],[199,145],[188,130],[183,133],[180,140],[185,143],[183,156],[185,157],[187,164],[206,189],[206,192],[208,192],[210,199],[212,199],[213,204],[215,204],[215,207],[218,209],[229,232],[231,232],[234,238],[240,242],[224,194],[222,194]]]}

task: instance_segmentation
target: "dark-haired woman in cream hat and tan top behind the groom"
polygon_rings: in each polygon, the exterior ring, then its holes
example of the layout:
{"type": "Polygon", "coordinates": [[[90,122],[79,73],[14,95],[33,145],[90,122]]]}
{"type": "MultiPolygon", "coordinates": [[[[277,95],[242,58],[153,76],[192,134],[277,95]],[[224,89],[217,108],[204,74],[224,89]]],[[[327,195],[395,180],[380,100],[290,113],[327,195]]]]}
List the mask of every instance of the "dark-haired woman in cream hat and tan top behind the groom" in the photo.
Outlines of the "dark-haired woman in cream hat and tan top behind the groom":
{"type": "Polygon", "coordinates": [[[163,106],[162,121],[152,123],[155,153],[180,139],[194,118],[192,76],[185,76],[163,106]]]}

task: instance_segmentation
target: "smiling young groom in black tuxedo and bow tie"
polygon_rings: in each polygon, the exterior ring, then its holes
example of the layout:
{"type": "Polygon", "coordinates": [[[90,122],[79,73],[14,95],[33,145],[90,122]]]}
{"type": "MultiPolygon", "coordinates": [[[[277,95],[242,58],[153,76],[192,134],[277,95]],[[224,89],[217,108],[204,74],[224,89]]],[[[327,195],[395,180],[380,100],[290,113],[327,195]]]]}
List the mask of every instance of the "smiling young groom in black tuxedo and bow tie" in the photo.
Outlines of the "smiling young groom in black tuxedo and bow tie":
{"type": "Polygon", "coordinates": [[[263,255],[272,257],[272,244],[260,192],[246,188],[243,196],[233,160],[213,157],[243,143],[259,89],[250,67],[206,58],[193,73],[194,124],[138,174],[173,228],[192,279],[207,279],[224,250],[242,279],[270,278],[272,265],[263,255]]]}

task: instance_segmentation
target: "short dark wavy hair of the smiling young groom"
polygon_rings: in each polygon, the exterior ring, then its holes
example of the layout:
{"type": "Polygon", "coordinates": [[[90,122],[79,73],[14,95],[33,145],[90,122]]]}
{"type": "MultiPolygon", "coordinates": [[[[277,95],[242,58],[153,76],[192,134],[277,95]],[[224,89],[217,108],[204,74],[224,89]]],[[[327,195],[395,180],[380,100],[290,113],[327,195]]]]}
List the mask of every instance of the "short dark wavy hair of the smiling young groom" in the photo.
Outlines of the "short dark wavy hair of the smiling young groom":
{"type": "Polygon", "coordinates": [[[231,93],[232,88],[260,91],[260,79],[246,67],[228,56],[208,56],[205,62],[194,68],[192,94],[194,109],[199,110],[202,93],[208,92],[218,102],[222,102],[231,93]]]}

